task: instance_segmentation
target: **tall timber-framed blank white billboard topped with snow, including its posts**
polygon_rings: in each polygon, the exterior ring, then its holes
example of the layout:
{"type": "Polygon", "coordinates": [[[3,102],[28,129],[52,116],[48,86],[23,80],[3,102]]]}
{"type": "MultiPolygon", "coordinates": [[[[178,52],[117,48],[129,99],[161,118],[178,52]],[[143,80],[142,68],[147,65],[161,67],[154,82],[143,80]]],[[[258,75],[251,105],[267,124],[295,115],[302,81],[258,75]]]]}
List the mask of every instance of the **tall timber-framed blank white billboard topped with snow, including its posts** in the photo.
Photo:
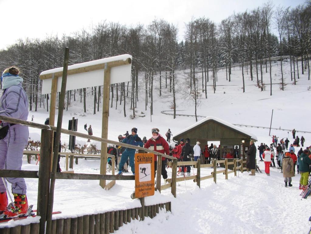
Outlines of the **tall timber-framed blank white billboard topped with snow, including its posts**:
{"type": "MultiPolygon", "coordinates": [[[[109,85],[131,81],[131,67],[132,55],[127,54],[68,66],[66,91],[92,86],[104,86],[101,133],[101,137],[104,139],[108,139],[109,85]]],[[[51,93],[49,116],[49,125],[51,126],[54,126],[56,94],[61,89],[62,75],[63,68],[55,68],[43,71],[39,76],[42,79],[41,93],[51,93]]],[[[102,142],[100,174],[106,174],[106,166],[107,143],[102,142]]],[[[100,180],[100,186],[105,188],[105,185],[106,180],[100,180]]]]}

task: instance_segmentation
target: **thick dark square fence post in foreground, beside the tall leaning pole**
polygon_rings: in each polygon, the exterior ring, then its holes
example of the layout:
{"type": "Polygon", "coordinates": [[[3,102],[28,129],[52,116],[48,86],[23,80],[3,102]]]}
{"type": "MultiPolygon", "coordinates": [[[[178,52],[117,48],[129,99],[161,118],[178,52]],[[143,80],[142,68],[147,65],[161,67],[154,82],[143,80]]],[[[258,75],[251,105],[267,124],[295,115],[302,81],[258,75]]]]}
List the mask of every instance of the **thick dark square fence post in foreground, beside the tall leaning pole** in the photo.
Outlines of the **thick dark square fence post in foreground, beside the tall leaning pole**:
{"type": "Polygon", "coordinates": [[[45,222],[48,213],[49,189],[50,189],[50,170],[51,170],[51,153],[52,153],[52,130],[41,130],[41,149],[39,164],[39,181],[38,181],[38,204],[37,215],[40,219],[40,233],[45,232],[45,222]]]}

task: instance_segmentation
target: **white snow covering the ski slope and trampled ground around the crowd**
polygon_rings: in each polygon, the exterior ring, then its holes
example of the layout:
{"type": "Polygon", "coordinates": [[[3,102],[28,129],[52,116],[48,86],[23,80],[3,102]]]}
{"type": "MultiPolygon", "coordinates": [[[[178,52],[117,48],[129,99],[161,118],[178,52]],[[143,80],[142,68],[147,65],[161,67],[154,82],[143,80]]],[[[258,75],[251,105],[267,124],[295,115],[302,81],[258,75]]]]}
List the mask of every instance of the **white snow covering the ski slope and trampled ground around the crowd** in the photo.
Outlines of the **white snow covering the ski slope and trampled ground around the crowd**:
{"type": "MultiPolygon", "coordinates": [[[[280,65],[274,66],[272,70],[273,81],[278,83],[280,79],[280,65]]],[[[197,114],[203,116],[212,115],[234,124],[246,124],[254,126],[270,126],[271,112],[273,112],[272,127],[284,129],[295,128],[298,131],[311,132],[308,117],[311,115],[309,108],[311,92],[308,87],[311,82],[307,75],[301,75],[297,85],[292,85],[289,64],[285,65],[285,91],[279,89],[279,85],[273,84],[272,96],[270,86],[260,92],[255,86],[256,81],[251,81],[249,75],[245,78],[245,93],[242,93],[241,71],[237,68],[232,71],[232,81],[226,81],[225,72],[218,72],[216,93],[208,87],[208,99],[201,98],[197,114]],[[286,70],[287,69],[287,70],[286,70]],[[230,84],[230,85],[229,85],[230,84]],[[224,85],[224,86],[220,86],[224,85]]],[[[246,73],[245,73],[246,74],[246,73]]],[[[178,84],[182,83],[182,76],[178,84]]],[[[256,79],[256,78],[255,78],[256,79]]],[[[163,81],[163,79],[162,79],[163,81]]],[[[158,82],[158,81],[157,81],[158,82]]],[[[201,81],[202,82],[202,81],[201,81]]],[[[268,74],[264,74],[264,82],[269,83],[268,74]]],[[[200,83],[200,82],[199,82],[200,83]]],[[[211,84],[212,82],[209,82],[211,84]]],[[[109,110],[109,140],[117,140],[119,134],[130,131],[132,127],[138,128],[140,137],[151,136],[151,128],[157,127],[160,133],[165,135],[168,128],[173,136],[175,133],[193,125],[194,117],[177,117],[163,115],[162,110],[169,110],[169,103],[172,98],[165,97],[168,91],[163,91],[163,96],[158,96],[154,91],[154,115],[150,122],[150,109],[145,111],[144,94],[142,93],[137,103],[137,113],[144,112],[146,117],[137,117],[135,120],[124,118],[123,106],[110,108],[109,110]]],[[[204,95],[203,95],[204,96],[204,95]]],[[[67,128],[68,120],[72,116],[78,118],[78,131],[86,133],[84,124],[92,125],[94,136],[101,135],[101,114],[93,115],[92,96],[88,94],[88,110],[83,113],[80,98],[72,101],[71,107],[64,112],[63,128],[67,128]]],[[[184,100],[183,94],[177,93],[177,109],[185,110],[181,113],[194,114],[193,103],[184,100]]],[[[114,103],[115,106],[115,103],[114,103]]],[[[127,110],[129,116],[130,110],[127,110]]],[[[44,109],[38,112],[30,112],[29,120],[34,115],[34,122],[44,123],[48,113],[44,109]]],[[[56,118],[57,119],[57,118],[56,118]]],[[[202,118],[198,118],[201,120],[202,118]]],[[[271,143],[269,129],[246,128],[246,131],[257,136],[258,143],[271,143]]],[[[272,130],[271,135],[281,138],[288,137],[292,140],[291,132],[272,130]]],[[[311,145],[311,134],[297,132],[296,135],[304,136],[305,146],[311,145]]],[[[30,136],[34,140],[40,139],[40,131],[30,128],[30,136]]],[[[68,142],[68,136],[62,134],[62,142],[68,142]]],[[[77,137],[77,142],[85,140],[77,137]]],[[[94,142],[92,142],[94,143],[94,142]]],[[[98,144],[98,148],[100,144],[98,144]]],[[[304,147],[305,148],[305,147],[304,147]]],[[[296,148],[296,152],[299,148],[296,148]]],[[[258,164],[264,169],[262,162],[258,164]]],[[[64,159],[61,160],[61,167],[64,168],[64,159]]],[[[74,164],[74,171],[77,173],[98,174],[100,167],[99,160],[79,160],[74,164]]],[[[31,165],[24,160],[23,170],[38,170],[39,166],[35,161],[31,165]]],[[[211,169],[201,171],[202,175],[210,174],[211,169]]],[[[195,173],[195,171],[194,171],[195,173]]],[[[168,170],[169,177],[171,169],[168,170]]],[[[193,174],[193,172],[192,172],[193,174]]],[[[248,176],[248,173],[239,173],[234,177],[229,174],[229,179],[217,174],[217,184],[213,179],[201,182],[201,189],[192,180],[179,182],[177,186],[177,198],[170,194],[170,189],[163,190],[153,197],[146,198],[146,205],[172,201],[172,213],[161,211],[152,220],[146,218],[144,222],[132,221],[124,225],[115,233],[157,233],[163,230],[164,233],[191,232],[195,233],[306,233],[309,230],[308,218],[310,199],[301,200],[298,189],[300,175],[293,178],[293,187],[285,188],[282,174],[276,169],[271,170],[271,176],[256,174],[255,177],[248,176]],[[161,228],[161,229],[159,229],[161,228]]],[[[37,203],[37,179],[26,179],[27,196],[30,204],[37,203]]],[[[163,182],[162,182],[163,183],[163,182]]],[[[126,209],[139,207],[138,200],[132,200],[130,194],[134,190],[134,181],[117,181],[116,185],[109,191],[101,189],[98,181],[92,180],[57,180],[55,185],[54,210],[61,210],[63,213],[55,215],[60,217],[76,217],[84,214],[99,213],[115,209],[126,209]]],[[[30,222],[23,220],[22,222],[30,222]]],[[[16,222],[17,224],[17,222],[16,222]]],[[[7,224],[6,224],[7,225],[7,224]]],[[[12,222],[9,225],[13,225],[12,222]]],[[[3,224],[0,224],[3,227],[3,224]]]]}

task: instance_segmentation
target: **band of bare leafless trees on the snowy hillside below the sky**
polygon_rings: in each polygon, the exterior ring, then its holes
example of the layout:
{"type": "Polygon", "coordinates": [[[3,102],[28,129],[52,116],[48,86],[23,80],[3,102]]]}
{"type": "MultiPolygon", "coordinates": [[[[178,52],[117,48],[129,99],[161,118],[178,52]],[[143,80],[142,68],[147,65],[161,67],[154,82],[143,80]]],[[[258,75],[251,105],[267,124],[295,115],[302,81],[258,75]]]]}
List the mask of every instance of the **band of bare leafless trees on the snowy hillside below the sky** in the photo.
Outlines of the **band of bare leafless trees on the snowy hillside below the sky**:
{"type": "MultiPolygon", "coordinates": [[[[186,33],[181,41],[177,40],[178,27],[165,19],[135,26],[104,21],[70,36],[19,40],[0,51],[0,69],[19,66],[30,111],[37,111],[38,107],[49,111],[46,104],[49,103],[49,95],[41,95],[39,74],[63,66],[65,46],[70,48],[69,65],[128,53],[133,56],[132,81],[111,85],[111,107],[118,102],[127,105],[132,113],[126,113],[124,108],[124,116],[130,114],[135,118],[138,92],[144,92],[146,110],[149,107],[152,115],[153,93],[159,92],[161,96],[163,89],[169,88],[168,96],[175,118],[175,92],[184,93],[184,97],[192,99],[197,107],[199,98],[208,98],[212,93],[207,91],[207,86],[212,86],[215,93],[219,69],[225,69],[228,82],[232,79],[232,69],[240,69],[241,92],[247,91],[244,84],[246,70],[251,80],[256,81],[258,92],[269,88],[270,95],[273,85],[271,67],[277,61],[286,59],[291,62],[290,74],[294,84],[300,74],[310,74],[310,10],[310,3],[291,9],[275,7],[269,2],[253,10],[234,13],[220,23],[207,17],[193,17],[185,22],[186,33]],[[179,70],[186,72],[180,74],[179,70]],[[265,84],[262,74],[269,72],[270,84],[265,84]],[[186,84],[177,85],[180,75],[186,78],[186,84]],[[155,82],[159,84],[156,89],[155,82]]],[[[276,85],[280,85],[282,90],[286,86],[282,63],[281,79],[276,85]]],[[[80,99],[86,112],[86,95],[91,92],[95,114],[99,111],[101,89],[90,87],[68,91],[65,106],[68,109],[72,100],[80,99]]]]}

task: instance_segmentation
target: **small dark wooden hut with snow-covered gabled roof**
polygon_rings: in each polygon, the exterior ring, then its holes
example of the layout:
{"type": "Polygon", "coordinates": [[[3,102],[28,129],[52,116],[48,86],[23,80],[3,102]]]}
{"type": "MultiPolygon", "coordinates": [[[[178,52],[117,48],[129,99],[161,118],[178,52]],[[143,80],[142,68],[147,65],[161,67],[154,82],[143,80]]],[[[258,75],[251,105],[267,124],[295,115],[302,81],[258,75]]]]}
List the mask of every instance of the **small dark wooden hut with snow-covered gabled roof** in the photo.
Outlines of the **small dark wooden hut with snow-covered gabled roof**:
{"type": "Polygon", "coordinates": [[[190,139],[191,145],[195,145],[199,141],[201,150],[204,149],[207,142],[220,141],[220,147],[216,145],[220,151],[220,158],[222,158],[225,151],[232,152],[235,146],[238,146],[239,158],[241,158],[249,147],[249,142],[251,140],[257,141],[257,137],[254,134],[212,116],[208,116],[178,132],[173,137],[173,140],[179,142],[180,139],[185,140],[186,138],[190,139]]]}

